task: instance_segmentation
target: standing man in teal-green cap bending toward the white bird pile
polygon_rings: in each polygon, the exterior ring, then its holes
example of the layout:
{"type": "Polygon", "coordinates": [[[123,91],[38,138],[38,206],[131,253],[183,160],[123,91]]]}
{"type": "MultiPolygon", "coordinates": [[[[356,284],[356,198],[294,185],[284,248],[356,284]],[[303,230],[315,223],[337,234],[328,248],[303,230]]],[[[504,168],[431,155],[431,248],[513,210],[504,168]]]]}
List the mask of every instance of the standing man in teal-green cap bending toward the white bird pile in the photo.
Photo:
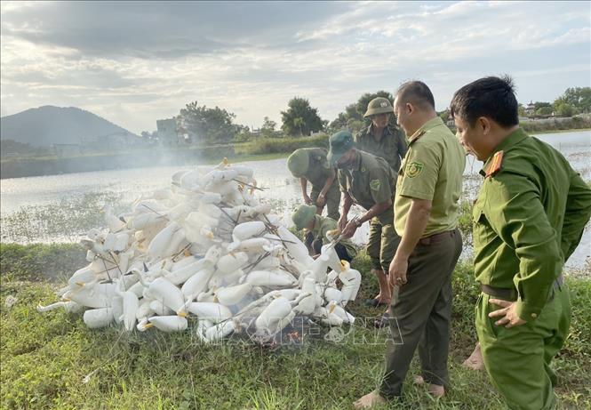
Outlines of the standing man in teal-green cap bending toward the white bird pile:
{"type": "Polygon", "coordinates": [[[370,229],[367,253],[371,271],[379,281],[378,301],[389,301],[392,294],[385,272],[399,241],[393,226],[395,173],[384,158],[355,149],[353,136],[348,131],[333,134],[329,143],[328,160],[339,168],[339,187],[343,193],[339,230],[345,237],[352,237],[364,221],[379,225],[379,229],[370,229]],[[354,203],[362,206],[366,213],[348,221],[347,215],[354,203]]]}

